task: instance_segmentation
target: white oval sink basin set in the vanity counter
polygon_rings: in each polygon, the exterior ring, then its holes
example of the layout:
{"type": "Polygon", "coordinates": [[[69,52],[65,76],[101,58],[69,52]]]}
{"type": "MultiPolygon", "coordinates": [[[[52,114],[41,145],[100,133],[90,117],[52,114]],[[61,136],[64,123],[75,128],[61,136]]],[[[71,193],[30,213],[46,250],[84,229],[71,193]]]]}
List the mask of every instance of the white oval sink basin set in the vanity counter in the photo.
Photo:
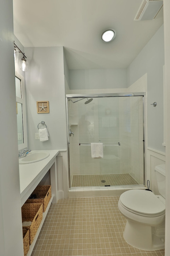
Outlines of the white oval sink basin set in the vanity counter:
{"type": "Polygon", "coordinates": [[[19,158],[19,164],[35,163],[49,157],[47,152],[30,152],[25,157],[19,158]]]}

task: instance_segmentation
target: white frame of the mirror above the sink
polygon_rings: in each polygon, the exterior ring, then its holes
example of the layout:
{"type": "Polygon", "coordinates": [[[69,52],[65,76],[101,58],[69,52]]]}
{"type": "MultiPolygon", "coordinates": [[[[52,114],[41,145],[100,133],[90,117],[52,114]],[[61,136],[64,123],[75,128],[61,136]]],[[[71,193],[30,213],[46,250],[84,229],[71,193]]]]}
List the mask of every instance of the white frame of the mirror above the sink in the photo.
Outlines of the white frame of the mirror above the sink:
{"type": "Polygon", "coordinates": [[[23,118],[23,139],[24,143],[18,145],[18,150],[22,150],[25,147],[27,147],[27,116],[26,116],[26,102],[25,102],[25,82],[24,77],[19,74],[17,71],[15,71],[15,77],[21,80],[21,93],[22,98],[16,97],[16,102],[19,102],[22,104],[22,118],[23,118]]]}

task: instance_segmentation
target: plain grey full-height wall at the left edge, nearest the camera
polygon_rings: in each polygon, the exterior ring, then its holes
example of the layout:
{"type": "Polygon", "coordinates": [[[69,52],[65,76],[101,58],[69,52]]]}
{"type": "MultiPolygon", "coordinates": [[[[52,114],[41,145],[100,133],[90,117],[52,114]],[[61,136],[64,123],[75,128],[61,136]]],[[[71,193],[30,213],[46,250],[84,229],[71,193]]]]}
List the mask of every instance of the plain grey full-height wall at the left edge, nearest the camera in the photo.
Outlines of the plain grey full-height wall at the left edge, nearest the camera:
{"type": "Polygon", "coordinates": [[[12,0],[0,8],[0,255],[22,256],[12,0]]]}

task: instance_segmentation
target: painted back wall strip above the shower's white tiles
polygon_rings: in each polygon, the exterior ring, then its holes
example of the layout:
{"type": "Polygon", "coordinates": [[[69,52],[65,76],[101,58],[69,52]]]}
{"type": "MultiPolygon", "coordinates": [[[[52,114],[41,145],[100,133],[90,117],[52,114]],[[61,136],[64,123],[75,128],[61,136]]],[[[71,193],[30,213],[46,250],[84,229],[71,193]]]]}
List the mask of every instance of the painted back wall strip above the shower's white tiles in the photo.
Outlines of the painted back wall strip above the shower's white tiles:
{"type": "Polygon", "coordinates": [[[127,69],[70,70],[70,90],[127,87],[127,69]]]}

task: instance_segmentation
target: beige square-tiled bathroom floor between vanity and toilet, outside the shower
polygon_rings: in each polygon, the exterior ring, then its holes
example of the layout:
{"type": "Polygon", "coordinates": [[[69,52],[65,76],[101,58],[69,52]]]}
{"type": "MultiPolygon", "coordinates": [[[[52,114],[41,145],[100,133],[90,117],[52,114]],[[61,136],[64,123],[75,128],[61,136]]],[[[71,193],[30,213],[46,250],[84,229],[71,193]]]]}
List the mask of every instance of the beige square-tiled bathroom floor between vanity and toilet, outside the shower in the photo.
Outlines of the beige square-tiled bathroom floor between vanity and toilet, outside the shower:
{"type": "Polygon", "coordinates": [[[50,206],[31,256],[164,256],[163,249],[146,251],[126,243],[118,199],[58,200],[50,206]]]}

